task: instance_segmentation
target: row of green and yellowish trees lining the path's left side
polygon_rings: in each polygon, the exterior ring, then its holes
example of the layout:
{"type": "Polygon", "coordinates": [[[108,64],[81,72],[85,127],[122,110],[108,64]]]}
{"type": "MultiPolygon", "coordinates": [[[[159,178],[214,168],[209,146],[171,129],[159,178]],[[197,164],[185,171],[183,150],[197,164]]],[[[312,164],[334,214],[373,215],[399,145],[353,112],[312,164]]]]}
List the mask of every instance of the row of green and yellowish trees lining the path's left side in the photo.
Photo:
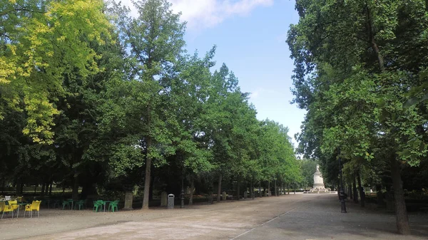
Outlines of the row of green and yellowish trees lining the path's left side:
{"type": "Polygon", "coordinates": [[[141,185],[147,209],[153,182],[300,181],[287,127],[256,119],[227,66],[211,71],[215,47],[186,53],[168,1],[134,6],[136,18],[101,0],[0,0],[3,186],[76,199],[141,185]]]}

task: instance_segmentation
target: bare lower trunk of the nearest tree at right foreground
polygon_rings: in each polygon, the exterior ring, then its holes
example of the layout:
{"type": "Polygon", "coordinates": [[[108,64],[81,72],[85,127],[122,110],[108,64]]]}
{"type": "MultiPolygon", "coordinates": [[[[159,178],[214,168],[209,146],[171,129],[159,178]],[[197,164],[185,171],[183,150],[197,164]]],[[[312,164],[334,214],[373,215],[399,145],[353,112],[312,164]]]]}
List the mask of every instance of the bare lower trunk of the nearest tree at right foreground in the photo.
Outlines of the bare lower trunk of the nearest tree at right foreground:
{"type": "Polygon", "coordinates": [[[392,186],[394,187],[395,217],[397,219],[397,229],[399,234],[409,235],[409,217],[407,216],[406,203],[404,202],[404,192],[401,179],[401,169],[399,162],[391,160],[392,186]]]}

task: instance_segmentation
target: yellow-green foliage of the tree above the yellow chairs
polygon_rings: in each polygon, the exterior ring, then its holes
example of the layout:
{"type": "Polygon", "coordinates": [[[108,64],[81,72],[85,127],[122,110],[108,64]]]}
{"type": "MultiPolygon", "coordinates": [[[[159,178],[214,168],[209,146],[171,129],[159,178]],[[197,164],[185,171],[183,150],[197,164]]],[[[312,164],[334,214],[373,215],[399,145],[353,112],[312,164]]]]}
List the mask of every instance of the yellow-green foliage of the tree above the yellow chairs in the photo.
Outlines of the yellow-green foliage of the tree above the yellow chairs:
{"type": "Polygon", "coordinates": [[[104,43],[109,24],[102,9],[101,0],[0,1],[0,120],[5,108],[25,110],[24,133],[52,142],[59,112],[50,94],[63,93],[68,74],[99,71],[99,56],[82,39],[104,43]]]}

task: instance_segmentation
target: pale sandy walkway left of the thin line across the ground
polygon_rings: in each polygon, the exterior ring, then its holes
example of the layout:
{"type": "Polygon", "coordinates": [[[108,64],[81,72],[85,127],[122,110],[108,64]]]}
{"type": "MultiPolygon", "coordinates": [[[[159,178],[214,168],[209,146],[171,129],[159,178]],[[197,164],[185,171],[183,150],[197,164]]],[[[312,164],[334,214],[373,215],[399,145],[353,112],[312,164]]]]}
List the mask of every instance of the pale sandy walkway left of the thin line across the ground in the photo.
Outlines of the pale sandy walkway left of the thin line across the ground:
{"type": "Polygon", "coordinates": [[[41,209],[39,219],[0,221],[0,239],[230,239],[291,209],[300,197],[116,213],[41,209]]]}

